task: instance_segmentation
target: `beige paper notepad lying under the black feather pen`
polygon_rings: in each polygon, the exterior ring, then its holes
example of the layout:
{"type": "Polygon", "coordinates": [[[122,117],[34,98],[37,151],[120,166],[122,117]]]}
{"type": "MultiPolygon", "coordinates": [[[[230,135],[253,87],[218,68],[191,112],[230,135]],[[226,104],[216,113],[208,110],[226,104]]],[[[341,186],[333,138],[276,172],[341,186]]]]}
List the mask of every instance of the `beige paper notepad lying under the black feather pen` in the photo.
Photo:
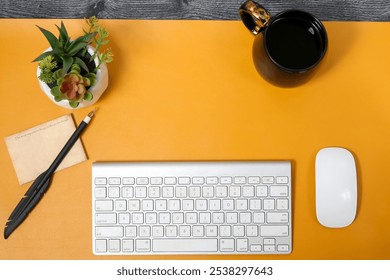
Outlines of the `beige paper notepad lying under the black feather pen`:
{"type": "MultiPolygon", "coordinates": [[[[75,129],[72,116],[65,115],[6,137],[5,143],[19,183],[33,181],[47,170],[75,129]]],[[[85,160],[87,156],[79,139],[57,171],[85,160]]]]}

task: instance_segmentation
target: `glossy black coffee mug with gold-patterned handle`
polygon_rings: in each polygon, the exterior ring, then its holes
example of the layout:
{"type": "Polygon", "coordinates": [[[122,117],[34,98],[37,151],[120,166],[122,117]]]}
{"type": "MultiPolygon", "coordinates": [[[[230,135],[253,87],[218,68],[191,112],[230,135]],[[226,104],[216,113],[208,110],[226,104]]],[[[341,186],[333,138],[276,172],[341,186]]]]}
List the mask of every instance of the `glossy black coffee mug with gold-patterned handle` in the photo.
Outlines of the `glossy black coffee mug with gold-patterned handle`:
{"type": "Polygon", "coordinates": [[[265,80],[280,87],[295,87],[314,75],[328,46],[319,19],[301,10],[286,10],[271,17],[263,6],[250,0],[241,5],[240,17],[256,35],[253,62],[265,80]]]}

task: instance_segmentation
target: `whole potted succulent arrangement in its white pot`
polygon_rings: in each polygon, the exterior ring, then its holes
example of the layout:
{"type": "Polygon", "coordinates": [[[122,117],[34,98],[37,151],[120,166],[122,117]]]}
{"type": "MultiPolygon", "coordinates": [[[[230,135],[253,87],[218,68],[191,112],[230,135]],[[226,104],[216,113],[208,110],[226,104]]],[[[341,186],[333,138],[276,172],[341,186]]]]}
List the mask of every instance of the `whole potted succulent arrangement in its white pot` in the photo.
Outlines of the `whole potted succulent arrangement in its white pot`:
{"type": "Polygon", "coordinates": [[[57,105],[75,109],[95,103],[108,85],[107,63],[113,60],[108,32],[96,17],[86,20],[88,30],[71,40],[63,22],[59,36],[38,26],[50,44],[39,55],[37,76],[46,95],[57,105]]]}

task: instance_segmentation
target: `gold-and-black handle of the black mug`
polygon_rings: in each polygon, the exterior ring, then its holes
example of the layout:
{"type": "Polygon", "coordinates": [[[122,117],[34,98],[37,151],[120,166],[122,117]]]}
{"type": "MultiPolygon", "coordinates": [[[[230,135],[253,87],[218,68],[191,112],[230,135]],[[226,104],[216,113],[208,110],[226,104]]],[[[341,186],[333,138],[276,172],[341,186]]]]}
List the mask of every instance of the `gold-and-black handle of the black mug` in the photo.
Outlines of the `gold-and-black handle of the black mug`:
{"type": "Polygon", "coordinates": [[[251,0],[245,1],[239,12],[242,22],[254,35],[262,32],[271,18],[266,8],[251,0]]]}

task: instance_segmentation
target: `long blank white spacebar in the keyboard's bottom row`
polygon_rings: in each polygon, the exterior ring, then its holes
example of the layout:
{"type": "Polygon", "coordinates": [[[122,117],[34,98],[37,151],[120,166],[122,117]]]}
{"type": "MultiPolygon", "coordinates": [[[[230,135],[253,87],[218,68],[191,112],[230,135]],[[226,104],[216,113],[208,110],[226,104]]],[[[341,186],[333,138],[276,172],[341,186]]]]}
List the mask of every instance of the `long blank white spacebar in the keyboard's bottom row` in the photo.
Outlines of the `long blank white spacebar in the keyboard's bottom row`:
{"type": "Polygon", "coordinates": [[[153,252],[217,252],[217,239],[153,239],[153,252]]]}

